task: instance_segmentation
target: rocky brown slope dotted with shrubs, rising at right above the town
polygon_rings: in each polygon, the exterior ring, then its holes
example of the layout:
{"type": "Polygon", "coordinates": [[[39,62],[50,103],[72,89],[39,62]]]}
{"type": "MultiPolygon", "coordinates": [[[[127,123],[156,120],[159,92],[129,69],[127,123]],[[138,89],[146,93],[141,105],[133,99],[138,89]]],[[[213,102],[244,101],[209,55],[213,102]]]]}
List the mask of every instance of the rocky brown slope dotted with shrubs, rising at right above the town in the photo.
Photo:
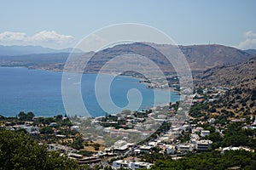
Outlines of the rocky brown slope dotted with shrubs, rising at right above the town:
{"type": "MultiPolygon", "coordinates": [[[[195,76],[194,82],[197,88],[230,88],[210,104],[210,107],[214,108],[213,115],[217,114],[226,120],[256,113],[256,57],[241,64],[218,66],[204,71],[195,76]]],[[[207,110],[203,112],[209,113],[207,110]]]]}

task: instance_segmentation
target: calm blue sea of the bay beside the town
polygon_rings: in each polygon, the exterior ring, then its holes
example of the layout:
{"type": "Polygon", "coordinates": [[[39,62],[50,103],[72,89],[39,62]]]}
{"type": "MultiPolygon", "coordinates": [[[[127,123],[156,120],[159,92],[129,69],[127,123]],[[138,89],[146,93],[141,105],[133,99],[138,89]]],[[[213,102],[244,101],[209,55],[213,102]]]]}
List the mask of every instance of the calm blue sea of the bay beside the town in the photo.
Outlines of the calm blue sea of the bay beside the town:
{"type": "MultiPolygon", "coordinates": [[[[32,111],[36,116],[66,114],[61,96],[61,77],[62,72],[0,67],[0,115],[16,116],[20,111],[32,111]]],[[[113,113],[116,113],[118,110],[115,110],[113,105],[108,105],[109,97],[108,94],[104,94],[103,90],[99,98],[106,105],[103,105],[104,109],[99,105],[95,90],[96,77],[96,74],[84,74],[81,83],[77,84],[81,86],[84,106],[90,112],[90,116],[105,116],[112,109],[113,113]]],[[[111,75],[103,75],[102,77],[100,83],[102,86],[106,86],[109,78],[113,78],[111,75]]],[[[146,87],[146,84],[139,83],[136,78],[119,76],[113,78],[109,94],[114,105],[119,108],[130,109],[131,111],[145,110],[154,105],[154,89],[146,87]],[[127,93],[131,89],[131,105],[128,105],[127,93]],[[140,92],[140,95],[137,94],[137,91],[140,92]],[[137,108],[136,102],[140,96],[142,97],[142,104],[137,108]]],[[[166,96],[166,93],[170,93],[164,90],[157,91],[160,96],[166,96]]],[[[175,102],[177,100],[179,100],[179,95],[172,92],[170,101],[175,102]]],[[[155,104],[163,105],[165,102],[164,99],[158,99],[155,104]]],[[[78,110],[76,108],[76,111],[78,110]]],[[[82,110],[81,108],[81,113],[82,110]]]]}

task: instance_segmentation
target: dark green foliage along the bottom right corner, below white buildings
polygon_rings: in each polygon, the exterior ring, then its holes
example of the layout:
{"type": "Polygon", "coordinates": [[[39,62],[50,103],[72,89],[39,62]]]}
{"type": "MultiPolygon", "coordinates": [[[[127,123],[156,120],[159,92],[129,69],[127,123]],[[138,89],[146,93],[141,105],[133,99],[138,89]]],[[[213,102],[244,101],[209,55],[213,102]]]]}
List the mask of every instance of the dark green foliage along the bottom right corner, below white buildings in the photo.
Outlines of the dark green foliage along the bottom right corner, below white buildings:
{"type": "Polygon", "coordinates": [[[221,154],[212,151],[201,154],[191,154],[186,158],[172,161],[172,159],[156,161],[151,169],[216,169],[222,170],[229,167],[241,167],[241,169],[255,169],[256,153],[245,150],[225,151],[221,154]]]}

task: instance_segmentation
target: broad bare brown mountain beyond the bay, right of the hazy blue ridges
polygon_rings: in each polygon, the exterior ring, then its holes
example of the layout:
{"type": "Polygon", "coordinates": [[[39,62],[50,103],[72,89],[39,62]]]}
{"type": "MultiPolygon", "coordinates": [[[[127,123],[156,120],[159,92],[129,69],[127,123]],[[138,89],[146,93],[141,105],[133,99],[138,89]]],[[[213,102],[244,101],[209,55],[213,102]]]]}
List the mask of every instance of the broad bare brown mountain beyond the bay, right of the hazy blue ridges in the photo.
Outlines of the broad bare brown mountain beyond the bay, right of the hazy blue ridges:
{"type": "MultiPolygon", "coordinates": [[[[148,42],[117,45],[113,48],[107,48],[96,53],[89,63],[89,68],[99,69],[109,59],[113,59],[115,56],[122,54],[141,54],[153,60],[163,71],[175,71],[166,57],[155,48],[160,49],[160,51],[166,54],[172,50],[173,46],[148,42]]],[[[247,54],[239,49],[222,45],[179,46],[179,48],[188,60],[192,71],[205,71],[220,65],[234,65],[253,57],[253,55],[247,54]]],[[[175,58],[176,57],[173,56],[174,60],[175,58]]]]}

